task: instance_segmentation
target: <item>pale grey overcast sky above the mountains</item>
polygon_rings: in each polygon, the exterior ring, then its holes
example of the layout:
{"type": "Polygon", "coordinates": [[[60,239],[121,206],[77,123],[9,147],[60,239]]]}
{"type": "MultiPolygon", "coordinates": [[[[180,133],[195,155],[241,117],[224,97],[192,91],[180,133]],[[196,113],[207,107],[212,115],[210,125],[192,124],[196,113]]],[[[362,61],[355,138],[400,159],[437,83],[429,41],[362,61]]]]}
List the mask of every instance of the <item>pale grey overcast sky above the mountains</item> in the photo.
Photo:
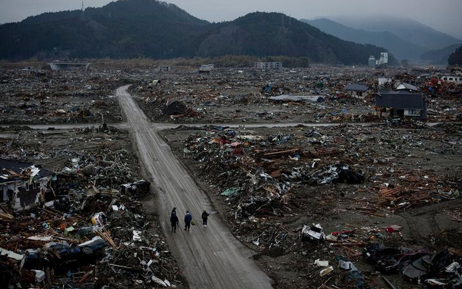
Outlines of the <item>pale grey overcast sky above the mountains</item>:
{"type": "MultiPolygon", "coordinates": [[[[81,0],[0,0],[0,23],[43,12],[80,9],[81,0]]],[[[99,7],[110,0],[84,0],[99,7]]],[[[209,21],[232,20],[255,11],[284,12],[294,18],[329,15],[392,14],[462,39],[462,0],[169,0],[193,16],[209,21]]]]}

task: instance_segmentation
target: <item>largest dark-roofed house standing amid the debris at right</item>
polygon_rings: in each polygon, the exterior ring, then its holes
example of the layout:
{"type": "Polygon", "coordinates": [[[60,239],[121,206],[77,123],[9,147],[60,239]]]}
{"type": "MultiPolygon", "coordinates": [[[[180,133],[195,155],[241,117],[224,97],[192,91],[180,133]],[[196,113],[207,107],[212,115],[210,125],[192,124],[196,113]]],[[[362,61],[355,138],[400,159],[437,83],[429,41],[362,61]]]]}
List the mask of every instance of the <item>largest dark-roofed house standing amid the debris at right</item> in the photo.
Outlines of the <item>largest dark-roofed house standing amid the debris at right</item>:
{"type": "Polygon", "coordinates": [[[380,116],[388,112],[390,117],[427,119],[427,106],[422,94],[379,92],[375,95],[375,105],[380,116]]]}

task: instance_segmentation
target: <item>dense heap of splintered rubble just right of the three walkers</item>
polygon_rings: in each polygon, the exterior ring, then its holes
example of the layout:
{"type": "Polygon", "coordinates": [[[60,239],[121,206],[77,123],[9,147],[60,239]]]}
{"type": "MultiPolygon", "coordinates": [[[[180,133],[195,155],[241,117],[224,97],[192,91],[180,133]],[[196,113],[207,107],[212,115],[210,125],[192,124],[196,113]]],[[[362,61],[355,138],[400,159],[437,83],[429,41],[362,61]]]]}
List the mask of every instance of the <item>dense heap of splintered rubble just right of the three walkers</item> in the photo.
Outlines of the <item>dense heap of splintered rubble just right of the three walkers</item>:
{"type": "Polygon", "coordinates": [[[296,202],[293,188],[364,181],[361,170],[338,160],[307,163],[313,157],[341,153],[330,146],[317,145],[316,141],[308,147],[293,146],[296,141],[306,140],[306,135],[251,135],[216,126],[203,135],[191,135],[185,140],[184,155],[199,162],[209,181],[223,188],[220,195],[231,202],[236,224],[259,222],[258,215],[288,212],[296,202]]]}

